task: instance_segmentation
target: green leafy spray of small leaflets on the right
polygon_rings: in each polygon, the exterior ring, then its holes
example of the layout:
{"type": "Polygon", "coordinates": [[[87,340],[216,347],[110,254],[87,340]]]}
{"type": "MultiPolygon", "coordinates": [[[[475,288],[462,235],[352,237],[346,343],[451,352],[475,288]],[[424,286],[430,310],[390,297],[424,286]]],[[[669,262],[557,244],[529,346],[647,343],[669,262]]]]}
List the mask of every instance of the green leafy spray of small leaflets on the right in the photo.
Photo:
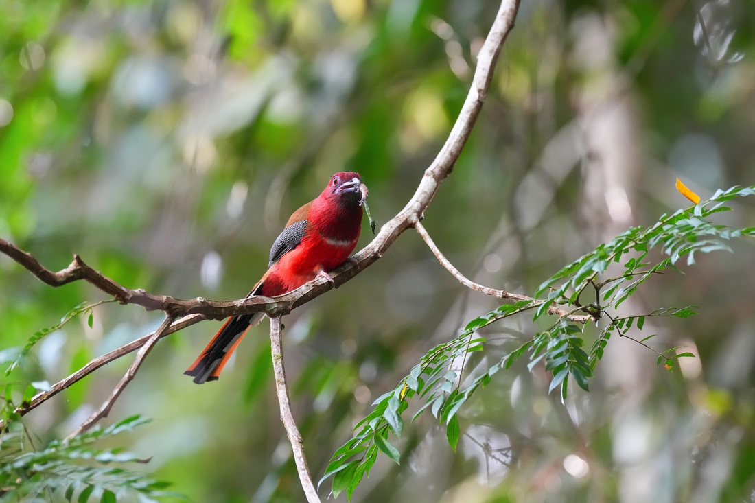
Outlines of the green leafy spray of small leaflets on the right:
{"type": "Polygon", "coordinates": [[[471,320],[460,335],[433,347],[393,390],[374,401],[374,409],[356,424],[353,437],[332,455],[320,483],[333,477],[333,495],[346,491],[351,498],[363,477],[369,476],[378,452],[400,463],[399,449],[389,438],[390,434],[401,437],[405,427],[403,414],[412,399],[419,403],[415,404],[418,409],[411,421],[429,410],[445,424],[448,443],[455,450],[461,433],[458,412],[479,387],[485,387],[497,372],[509,369],[525,354],[529,356],[527,366],[530,371],[544,363],[551,376],[548,391],[559,389],[562,401],[569,393],[569,375],[579,387],[589,390],[590,378],[614,334],[648,348],[658,356],[658,365],[664,363],[668,370],[674,369],[679,358],[694,356],[680,351],[681,347],[656,350],[648,344],[655,334],[637,338],[631,333],[642,332],[649,316],[686,318],[696,314],[695,306],[658,307],[632,316],[619,316],[617,309],[652,276],[666,270],[680,272],[676,264],[681,258],[686,257],[687,265],[691,266],[695,264],[695,253],[731,251],[729,240],[755,235],[755,227],[735,229],[711,221],[713,214],[731,211],[726,202],[753,194],[755,186],[719,190],[707,201],[662,215],[650,227],[631,227],[562,267],[542,282],[535,293],[536,298],[503,304],[471,320]],[[661,253],[651,255],[653,250],[661,253]],[[549,314],[553,307],[559,307],[565,313],[561,316],[549,314]],[[532,311],[532,321],[536,325],[541,325],[544,319],[552,321],[528,340],[517,341],[516,348],[496,358],[487,369],[464,375],[473,353],[485,354],[486,341],[478,334],[480,329],[532,311]],[[589,315],[592,323],[578,324],[569,319],[575,313],[589,315]],[[587,327],[592,326],[596,326],[599,332],[587,352],[584,347],[587,339],[592,337],[587,334],[587,327]]]}

